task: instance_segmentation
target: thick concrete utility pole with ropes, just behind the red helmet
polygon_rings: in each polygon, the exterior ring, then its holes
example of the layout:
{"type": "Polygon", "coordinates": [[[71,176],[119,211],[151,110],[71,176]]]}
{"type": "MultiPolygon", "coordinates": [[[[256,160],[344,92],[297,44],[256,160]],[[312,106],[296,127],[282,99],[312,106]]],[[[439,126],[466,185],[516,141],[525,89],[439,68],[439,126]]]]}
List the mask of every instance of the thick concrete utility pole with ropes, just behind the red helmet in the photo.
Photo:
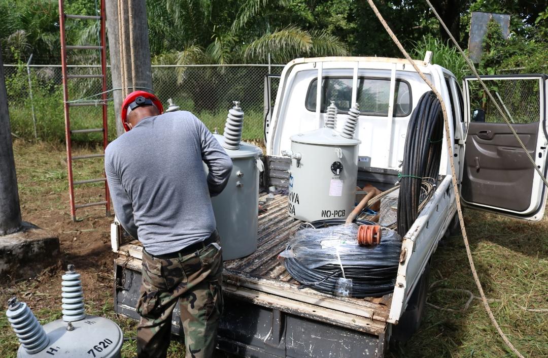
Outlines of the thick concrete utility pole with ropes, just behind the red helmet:
{"type": "MultiPolygon", "coordinates": [[[[122,87],[122,73],[120,63],[120,43],[119,29],[121,24],[118,24],[118,1],[123,2],[123,24],[125,28],[125,71],[128,73],[128,93],[132,89],[132,60],[130,53],[129,42],[129,13],[133,16],[133,49],[134,49],[134,64],[135,64],[135,89],[147,90],[152,88],[152,70],[150,60],[149,46],[149,26],[146,22],[146,1],[132,0],[132,7],[129,8],[127,0],[106,0],[106,25],[107,35],[109,36],[109,52],[110,52],[110,69],[112,75],[112,88],[122,87]]],[[[124,32],[124,31],[122,31],[124,32]]],[[[116,113],[116,133],[118,136],[124,133],[124,128],[120,122],[120,107],[122,106],[122,91],[115,90],[113,93],[114,108],[116,113]]]]}

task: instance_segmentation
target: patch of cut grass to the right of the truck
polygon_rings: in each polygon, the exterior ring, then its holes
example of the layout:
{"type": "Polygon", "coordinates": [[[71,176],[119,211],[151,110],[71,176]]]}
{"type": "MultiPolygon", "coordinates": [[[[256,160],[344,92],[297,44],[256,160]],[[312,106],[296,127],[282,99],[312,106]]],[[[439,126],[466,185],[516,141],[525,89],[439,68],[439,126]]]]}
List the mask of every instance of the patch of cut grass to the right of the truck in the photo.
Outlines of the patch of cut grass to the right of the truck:
{"type": "MultiPolygon", "coordinates": [[[[466,211],[466,229],[479,279],[496,320],[526,357],[548,356],[548,220],[525,223],[499,215],[466,211]],[[522,308],[523,307],[523,308],[522,308]]],[[[443,240],[432,258],[429,302],[462,309],[469,296],[479,296],[462,237],[443,240]]],[[[392,346],[389,357],[512,357],[481,301],[464,312],[427,306],[416,336],[392,346]]]]}

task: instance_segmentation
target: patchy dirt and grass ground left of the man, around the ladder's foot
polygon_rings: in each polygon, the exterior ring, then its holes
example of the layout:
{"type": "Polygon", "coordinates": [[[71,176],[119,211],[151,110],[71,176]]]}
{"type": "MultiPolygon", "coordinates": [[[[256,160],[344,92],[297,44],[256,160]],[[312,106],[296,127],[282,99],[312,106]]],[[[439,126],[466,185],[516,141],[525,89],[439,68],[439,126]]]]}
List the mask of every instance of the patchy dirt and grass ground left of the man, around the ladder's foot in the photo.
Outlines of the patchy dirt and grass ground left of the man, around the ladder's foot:
{"type": "MultiPolygon", "coordinates": [[[[76,149],[77,154],[95,152],[95,147],[76,149]]],[[[135,336],[135,322],[116,317],[113,313],[113,259],[116,257],[110,246],[113,216],[105,215],[105,206],[90,207],[78,209],[78,220],[72,221],[68,204],[66,153],[61,145],[30,144],[18,140],[14,142],[14,156],[22,219],[58,236],[61,257],[58,265],[44,270],[35,279],[2,285],[0,302],[3,302],[4,309],[8,298],[16,296],[30,306],[41,323],[59,319],[61,276],[66,266],[73,264],[82,275],[87,314],[116,320],[124,334],[135,336]]],[[[101,160],[76,163],[76,180],[102,176],[101,160]]],[[[75,192],[78,203],[102,201],[104,197],[102,185],[88,185],[75,192]]],[[[4,309],[0,315],[0,355],[15,357],[19,344],[5,320],[4,309]]],[[[134,348],[133,342],[127,342],[123,351],[127,356],[133,356],[134,348]]]]}

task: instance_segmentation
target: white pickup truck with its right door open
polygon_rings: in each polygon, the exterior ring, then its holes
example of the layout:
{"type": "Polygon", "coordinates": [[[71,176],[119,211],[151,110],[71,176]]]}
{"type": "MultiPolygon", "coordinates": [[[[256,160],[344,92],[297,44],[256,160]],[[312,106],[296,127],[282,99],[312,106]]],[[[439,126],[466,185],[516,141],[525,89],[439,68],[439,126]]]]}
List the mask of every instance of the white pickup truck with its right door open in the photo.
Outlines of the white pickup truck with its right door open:
{"type": "MultiPolygon", "coordinates": [[[[461,201],[512,217],[540,220],[546,188],[524,157],[500,115],[484,100],[475,78],[465,78],[464,91],[455,76],[438,65],[416,61],[446,103],[459,176],[461,201]],[[464,95],[463,95],[464,92],[464,95]]],[[[270,76],[267,83],[271,81],[270,76]]],[[[546,79],[544,75],[486,76],[499,96],[529,154],[543,173],[547,169],[546,79]]],[[[339,129],[351,104],[358,103],[361,140],[358,186],[392,187],[401,173],[409,117],[430,88],[402,59],[335,57],[295,59],[284,67],[270,109],[265,90],[266,168],[264,186],[287,187],[290,137],[321,128],[333,100],[339,129]],[[321,83],[321,86],[318,86],[321,83]]],[[[429,262],[439,240],[456,228],[446,141],[436,190],[402,240],[393,292],[381,298],[335,297],[298,289],[279,263],[278,254],[301,224],[287,214],[287,195],[276,195],[259,214],[258,250],[225,262],[225,314],[219,349],[245,357],[381,357],[391,337],[409,337],[420,323],[429,262]]],[[[314,185],[314,183],[310,183],[314,185]]],[[[115,261],[115,307],[137,318],[141,270],[138,241],[124,242],[121,226],[112,226],[115,261]]],[[[178,312],[173,333],[181,334],[178,312]]]]}

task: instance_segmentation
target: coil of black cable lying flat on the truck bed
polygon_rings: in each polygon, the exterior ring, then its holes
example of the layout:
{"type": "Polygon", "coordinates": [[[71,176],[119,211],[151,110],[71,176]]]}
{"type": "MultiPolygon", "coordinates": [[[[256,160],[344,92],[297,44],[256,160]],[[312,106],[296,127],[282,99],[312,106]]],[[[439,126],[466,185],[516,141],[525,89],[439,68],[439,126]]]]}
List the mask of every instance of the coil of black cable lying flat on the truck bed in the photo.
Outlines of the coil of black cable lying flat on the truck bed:
{"type": "MultiPolygon", "coordinates": [[[[317,220],[302,224],[299,230],[313,228],[321,229],[328,226],[343,225],[344,219],[317,220]]],[[[360,225],[374,225],[372,221],[355,220],[354,223],[360,225]]],[[[381,241],[381,244],[383,242],[381,241]]],[[[401,244],[385,242],[385,245],[395,245],[390,251],[384,251],[385,264],[372,265],[349,265],[349,264],[324,264],[317,268],[309,268],[298,258],[287,257],[284,259],[284,266],[289,274],[301,283],[299,289],[313,288],[316,291],[326,294],[335,294],[338,287],[338,280],[341,277],[352,280],[352,288],[349,296],[356,298],[381,297],[393,291],[395,279],[398,271],[399,248],[401,244]],[[342,267],[341,267],[342,266],[342,267]],[[344,270],[344,274],[343,274],[344,270]]],[[[292,249],[289,245],[287,250],[292,249]]],[[[373,254],[373,253],[372,253],[373,254]]],[[[377,255],[379,253],[376,253],[377,255]]],[[[343,258],[344,259],[344,258],[343,258]]]]}

